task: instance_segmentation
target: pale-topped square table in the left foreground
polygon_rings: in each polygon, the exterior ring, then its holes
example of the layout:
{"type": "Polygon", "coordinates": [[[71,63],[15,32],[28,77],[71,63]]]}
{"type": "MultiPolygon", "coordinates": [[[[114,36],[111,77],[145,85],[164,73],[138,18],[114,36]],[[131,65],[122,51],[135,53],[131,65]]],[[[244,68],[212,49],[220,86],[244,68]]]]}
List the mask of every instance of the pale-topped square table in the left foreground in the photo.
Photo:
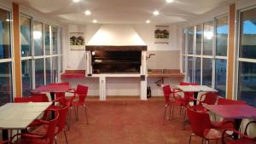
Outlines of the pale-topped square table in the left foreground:
{"type": "Polygon", "coordinates": [[[51,103],[7,103],[0,107],[0,130],[3,130],[3,140],[8,140],[8,130],[25,130],[51,103]]]}

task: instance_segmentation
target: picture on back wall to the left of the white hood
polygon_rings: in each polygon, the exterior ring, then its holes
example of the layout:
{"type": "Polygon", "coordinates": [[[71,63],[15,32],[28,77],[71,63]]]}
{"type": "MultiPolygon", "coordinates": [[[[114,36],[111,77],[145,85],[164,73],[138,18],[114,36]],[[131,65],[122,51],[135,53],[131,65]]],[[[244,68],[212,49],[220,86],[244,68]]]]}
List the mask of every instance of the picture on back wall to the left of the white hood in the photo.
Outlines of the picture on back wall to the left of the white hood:
{"type": "Polygon", "coordinates": [[[70,32],[70,49],[84,50],[84,32],[70,32]]]}

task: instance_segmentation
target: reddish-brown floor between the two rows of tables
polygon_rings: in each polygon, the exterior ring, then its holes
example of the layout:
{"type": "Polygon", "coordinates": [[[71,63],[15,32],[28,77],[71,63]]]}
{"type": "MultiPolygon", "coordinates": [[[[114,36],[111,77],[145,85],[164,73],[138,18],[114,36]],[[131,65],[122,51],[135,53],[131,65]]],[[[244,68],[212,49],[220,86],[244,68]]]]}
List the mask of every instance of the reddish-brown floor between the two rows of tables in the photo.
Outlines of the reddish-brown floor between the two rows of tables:
{"type": "MultiPolygon", "coordinates": [[[[176,107],[175,117],[163,123],[164,101],[151,99],[108,100],[87,102],[89,124],[84,109],[79,108],[79,121],[74,118],[67,131],[69,144],[186,144],[191,133],[189,125],[182,130],[183,118],[176,107]]],[[[62,134],[59,144],[65,144],[62,134]]],[[[213,141],[212,141],[213,142],[213,141]]],[[[191,144],[201,143],[193,137],[191,144]]],[[[215,143],[215,141],[214,141],[215,143]]]]}

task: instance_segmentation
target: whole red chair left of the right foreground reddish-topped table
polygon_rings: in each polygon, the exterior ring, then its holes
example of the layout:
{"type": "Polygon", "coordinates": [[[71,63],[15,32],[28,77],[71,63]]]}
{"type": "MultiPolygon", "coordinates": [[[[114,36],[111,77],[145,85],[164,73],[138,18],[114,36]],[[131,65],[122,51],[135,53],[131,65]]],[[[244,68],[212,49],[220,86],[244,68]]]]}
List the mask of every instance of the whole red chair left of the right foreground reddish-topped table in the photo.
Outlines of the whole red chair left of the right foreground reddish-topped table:
{"type": "Polygon", "coordinates": [[[212,129],[212,124],[207,112],[197,112],[187,107],[189,122],[191,124],[192,134],[189,137],[189,144],[193,135],[198,135],[204,140],[217,140],[221,139],[222,133],[219,130],[212,129]]]}

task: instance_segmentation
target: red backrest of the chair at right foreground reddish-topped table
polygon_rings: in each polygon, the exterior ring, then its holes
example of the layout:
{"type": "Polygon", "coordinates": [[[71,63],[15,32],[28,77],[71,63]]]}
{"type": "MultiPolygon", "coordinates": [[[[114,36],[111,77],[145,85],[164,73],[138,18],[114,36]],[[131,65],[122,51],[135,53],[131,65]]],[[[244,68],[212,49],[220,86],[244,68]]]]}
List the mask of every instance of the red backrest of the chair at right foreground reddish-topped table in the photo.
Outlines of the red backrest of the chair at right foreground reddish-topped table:
{"type": "Polygon", "coordinates": [[[207,112],[197,112],[191,108],[187,108],[191,130],[195,135],[203,137],[204,130],[211,129],[212,124],[207,112]]]}

